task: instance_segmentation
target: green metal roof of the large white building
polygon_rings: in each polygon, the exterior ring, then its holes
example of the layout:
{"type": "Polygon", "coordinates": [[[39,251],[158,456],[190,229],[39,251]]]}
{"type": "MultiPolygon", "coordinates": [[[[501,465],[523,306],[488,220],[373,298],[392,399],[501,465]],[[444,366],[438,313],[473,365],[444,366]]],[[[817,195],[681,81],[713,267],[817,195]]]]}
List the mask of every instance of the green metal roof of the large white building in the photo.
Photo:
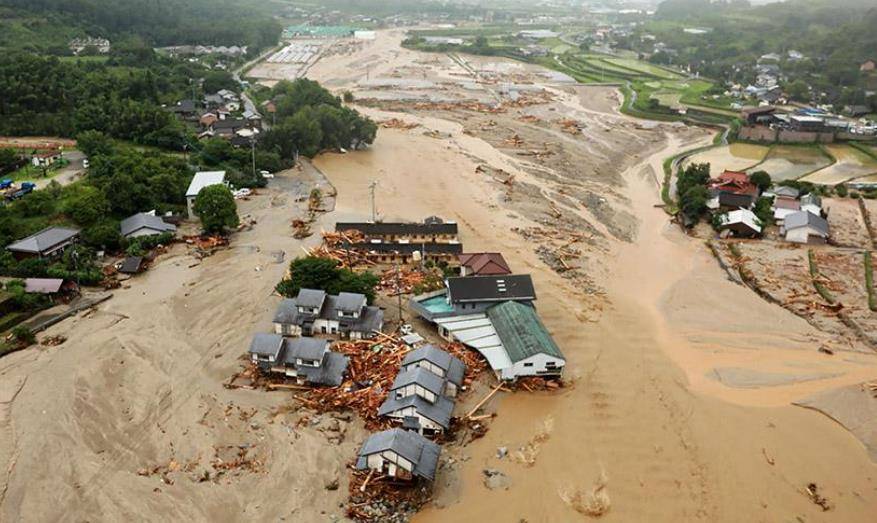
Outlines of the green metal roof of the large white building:
{"type": "Polygon", "coordinates": [[[487,309],[487,317],[512,363],[536,354],[565,359],[533,307],[507,301],[487,309]]]}

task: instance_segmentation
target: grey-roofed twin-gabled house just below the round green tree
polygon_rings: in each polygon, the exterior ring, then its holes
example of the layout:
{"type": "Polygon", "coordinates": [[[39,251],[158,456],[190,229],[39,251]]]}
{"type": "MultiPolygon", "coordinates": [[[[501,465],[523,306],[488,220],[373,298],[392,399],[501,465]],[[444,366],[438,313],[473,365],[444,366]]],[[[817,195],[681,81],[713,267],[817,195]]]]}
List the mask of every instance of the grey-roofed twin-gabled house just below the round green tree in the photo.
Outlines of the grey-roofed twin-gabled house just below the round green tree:
{"type": "Polygon", "coordinates": [[[315,289],[301,289],[285,299],[274,315],[274,330],[284,336],[339,334],[365,339],[380,332],[384,311],[369,306],[365,295],[342,292],[338,296],[315,289]]]}

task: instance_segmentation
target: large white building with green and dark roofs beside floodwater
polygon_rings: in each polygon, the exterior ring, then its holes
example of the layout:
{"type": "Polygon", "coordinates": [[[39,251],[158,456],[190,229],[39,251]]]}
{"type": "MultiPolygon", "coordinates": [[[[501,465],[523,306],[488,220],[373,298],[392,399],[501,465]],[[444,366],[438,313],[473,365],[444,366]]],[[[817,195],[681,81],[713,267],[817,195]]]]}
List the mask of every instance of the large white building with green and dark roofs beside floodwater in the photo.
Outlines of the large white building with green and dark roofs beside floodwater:
{"type": "Polygon", "coordinates": [[[499,379],[562,374],[566,360],[536,313],[529,276],[448,278],[445,285],[410,302],[441,337],[477,350],[499,379]]]}

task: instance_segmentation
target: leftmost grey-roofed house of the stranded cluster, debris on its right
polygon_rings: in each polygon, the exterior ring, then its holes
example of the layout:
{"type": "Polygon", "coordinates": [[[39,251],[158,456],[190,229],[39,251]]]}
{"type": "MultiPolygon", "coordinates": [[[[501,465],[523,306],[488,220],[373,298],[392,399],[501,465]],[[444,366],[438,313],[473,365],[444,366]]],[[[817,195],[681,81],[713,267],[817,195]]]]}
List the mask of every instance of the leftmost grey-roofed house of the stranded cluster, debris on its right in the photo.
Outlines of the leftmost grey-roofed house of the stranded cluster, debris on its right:
{"type": "Polygon", "coordinates": [[[299,385],[337,387],[349,362],[347,356],[329,350],[329,340],[265,333],[253,336],[249,354],[262,372],[295,378],[299,385]]]}

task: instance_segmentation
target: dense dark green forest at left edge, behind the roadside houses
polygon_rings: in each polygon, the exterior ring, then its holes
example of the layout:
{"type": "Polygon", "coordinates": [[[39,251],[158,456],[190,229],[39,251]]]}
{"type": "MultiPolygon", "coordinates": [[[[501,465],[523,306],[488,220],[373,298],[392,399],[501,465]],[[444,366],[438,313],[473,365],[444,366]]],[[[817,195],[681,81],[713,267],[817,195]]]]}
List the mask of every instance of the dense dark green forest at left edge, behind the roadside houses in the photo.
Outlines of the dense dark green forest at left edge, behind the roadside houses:
{"type": "MultiPolygon", "coordinates": [[[[145,50],[152,57],[151,50],[145,50]]],[[[119,55],[117,60],[124,62],[119,55]]],[[[189,89],[197,66],[146,58],[141,68],[0,54],[0,135],[115,138],[179,149],[184,128],[160,106],[189,89]]]]}

